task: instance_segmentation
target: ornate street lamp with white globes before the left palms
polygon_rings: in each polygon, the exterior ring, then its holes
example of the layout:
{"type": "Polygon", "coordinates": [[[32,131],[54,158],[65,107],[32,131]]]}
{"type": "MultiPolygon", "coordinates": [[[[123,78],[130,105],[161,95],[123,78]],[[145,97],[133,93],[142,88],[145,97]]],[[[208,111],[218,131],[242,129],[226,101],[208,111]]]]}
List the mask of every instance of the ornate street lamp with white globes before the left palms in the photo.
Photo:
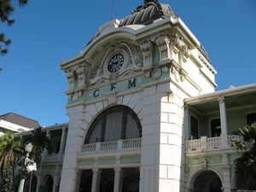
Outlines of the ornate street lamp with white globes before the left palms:
{"type": "Polygon", "coordinates": [[[24,158],[24,156],[22,156],[19,161],[19,164],[20,164],[19,166],[21,166],[21,169],[20,169],[20,185],[19,185],[18,192],[23,192],[27,173],[32,172],[33,170],[36,170],[36,168],[34,167],[36,163],[33,160],[29,159],[29,153],[32,151],[32,148],[33,148],[32,143],[26,144],[26,147],[25,147],[26,157],[24,158]]]}

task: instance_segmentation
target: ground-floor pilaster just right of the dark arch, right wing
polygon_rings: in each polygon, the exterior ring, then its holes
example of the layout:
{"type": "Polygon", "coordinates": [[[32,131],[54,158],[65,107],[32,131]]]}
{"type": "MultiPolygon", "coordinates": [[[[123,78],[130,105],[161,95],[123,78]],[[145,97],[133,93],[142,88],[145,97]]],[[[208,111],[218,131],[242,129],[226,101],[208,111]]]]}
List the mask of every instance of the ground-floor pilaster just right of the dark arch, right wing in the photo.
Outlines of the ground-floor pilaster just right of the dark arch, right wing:
{"type": "Polygon", "coordinates": [[[223,189],[224,192],[230,192],[231,187],[230,187],[230,165],[229,165],[229,155],[228,154],[222,154],[222,160],[223,160],[223,166],[222,166],[222,171],[223,171],[223,189]]]}

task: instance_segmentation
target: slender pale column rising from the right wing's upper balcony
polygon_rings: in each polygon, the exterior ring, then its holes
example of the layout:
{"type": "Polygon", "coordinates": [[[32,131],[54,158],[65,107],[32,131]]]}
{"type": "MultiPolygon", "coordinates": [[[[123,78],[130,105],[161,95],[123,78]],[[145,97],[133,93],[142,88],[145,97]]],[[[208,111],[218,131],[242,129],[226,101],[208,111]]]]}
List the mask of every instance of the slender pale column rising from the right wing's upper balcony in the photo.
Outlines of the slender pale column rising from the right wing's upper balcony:
{"type": "Polygon", "coordinates": [[[221,125],[221,146],[226,148],[228,144],[228,126],[227,126],[227,113],[225,98],[221,96],[218,98],[219,113],[220,113],[220,125],[221,125]]]}

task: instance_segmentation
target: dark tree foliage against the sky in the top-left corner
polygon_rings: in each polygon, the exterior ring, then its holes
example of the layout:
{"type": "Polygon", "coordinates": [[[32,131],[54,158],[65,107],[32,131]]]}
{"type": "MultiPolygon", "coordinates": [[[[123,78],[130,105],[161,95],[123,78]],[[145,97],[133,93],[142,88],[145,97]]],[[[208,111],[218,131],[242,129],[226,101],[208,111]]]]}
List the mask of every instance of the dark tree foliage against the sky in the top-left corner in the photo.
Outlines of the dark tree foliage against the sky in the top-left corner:
{"type": "MultiPolygon", "coordinates": [[[[20,7],[26,5],[28,0],[17,0],[20,7]]],[[[11,15],[15,12],[13,6],[13,0],[0,0],[0,26],[6,23],[8,26],[12,26],[15,23],[15,19],[11,18],[11,15]]],[[[6,38],[5,33],[0,32],[0,55],[6,55],[9,53],[8,46],[12,43],[10,38],[6,38]]]]}

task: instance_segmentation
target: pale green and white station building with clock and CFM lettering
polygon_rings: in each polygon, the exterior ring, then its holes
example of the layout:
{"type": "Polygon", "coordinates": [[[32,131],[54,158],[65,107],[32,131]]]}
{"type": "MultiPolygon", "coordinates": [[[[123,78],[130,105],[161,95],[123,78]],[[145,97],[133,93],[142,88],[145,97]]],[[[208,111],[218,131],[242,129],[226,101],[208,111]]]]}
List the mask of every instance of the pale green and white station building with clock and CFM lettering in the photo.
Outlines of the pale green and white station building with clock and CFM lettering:
{"type": "Polygon", "coordinates": [[[256,84],[214,91],[206,49],[167,4],[144,1],[61,62],[68,125],[46,127],[34,191],[236,191],[229,141],[256,121],[256,84]]]}

